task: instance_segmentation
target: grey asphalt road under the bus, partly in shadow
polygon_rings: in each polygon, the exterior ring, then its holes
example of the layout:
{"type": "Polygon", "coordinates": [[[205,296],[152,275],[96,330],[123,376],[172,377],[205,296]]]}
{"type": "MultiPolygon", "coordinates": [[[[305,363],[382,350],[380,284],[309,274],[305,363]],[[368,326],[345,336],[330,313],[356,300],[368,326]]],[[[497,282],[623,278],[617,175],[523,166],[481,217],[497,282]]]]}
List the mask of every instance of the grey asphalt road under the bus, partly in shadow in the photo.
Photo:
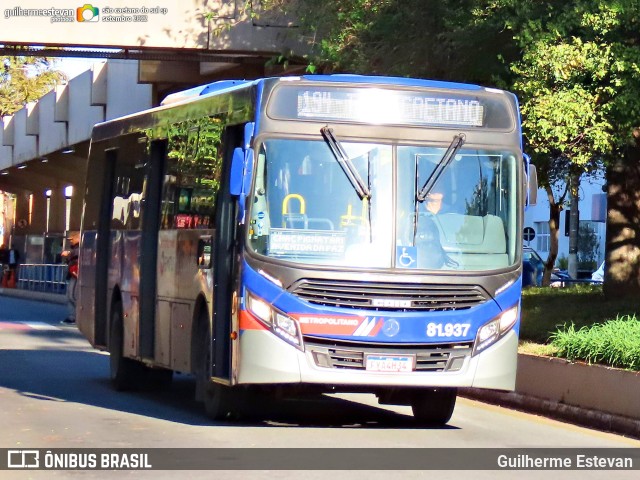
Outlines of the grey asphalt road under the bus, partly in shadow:
{"type": "Polygon", "coordinates": [[[108,356],[61,325],[64,317],[63,305],[0,296],[0,448],[280,448],[285,457],[295,457],[295,448],[360,448],[384,449],[375,452],[390,460],[404,448],[450,448],[460,449],[453,454],[460,452],[462,471],[362,470],[354,455],[354,471],[0,471],[2,479],[637,478],[637,471],[464,471],[464,448],[640,448],[632,439],[467,399],[458,400],[449,425],[435,429],[418,428],[409,407],[355,394],[279,401],[252,420],[212,422],[193,401],[187,375],[163,392],[112,390],[108,356]]]}

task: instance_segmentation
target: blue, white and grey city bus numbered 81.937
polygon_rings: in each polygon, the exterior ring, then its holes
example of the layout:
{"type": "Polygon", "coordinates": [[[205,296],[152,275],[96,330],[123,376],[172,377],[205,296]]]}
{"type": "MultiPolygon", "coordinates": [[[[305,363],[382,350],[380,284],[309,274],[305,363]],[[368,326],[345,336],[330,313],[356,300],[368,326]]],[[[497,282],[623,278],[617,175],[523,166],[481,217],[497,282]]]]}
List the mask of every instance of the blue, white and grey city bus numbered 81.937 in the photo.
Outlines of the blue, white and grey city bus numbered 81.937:
{"type": "Polygon", "coordinates": [[[526,186],[505,91],[327,75],[174,94],[93,130],[78,325],[117,389],[192,373],[212,418],[277,388],[444,424],[457,388],[514,388],[526,186]]]}

